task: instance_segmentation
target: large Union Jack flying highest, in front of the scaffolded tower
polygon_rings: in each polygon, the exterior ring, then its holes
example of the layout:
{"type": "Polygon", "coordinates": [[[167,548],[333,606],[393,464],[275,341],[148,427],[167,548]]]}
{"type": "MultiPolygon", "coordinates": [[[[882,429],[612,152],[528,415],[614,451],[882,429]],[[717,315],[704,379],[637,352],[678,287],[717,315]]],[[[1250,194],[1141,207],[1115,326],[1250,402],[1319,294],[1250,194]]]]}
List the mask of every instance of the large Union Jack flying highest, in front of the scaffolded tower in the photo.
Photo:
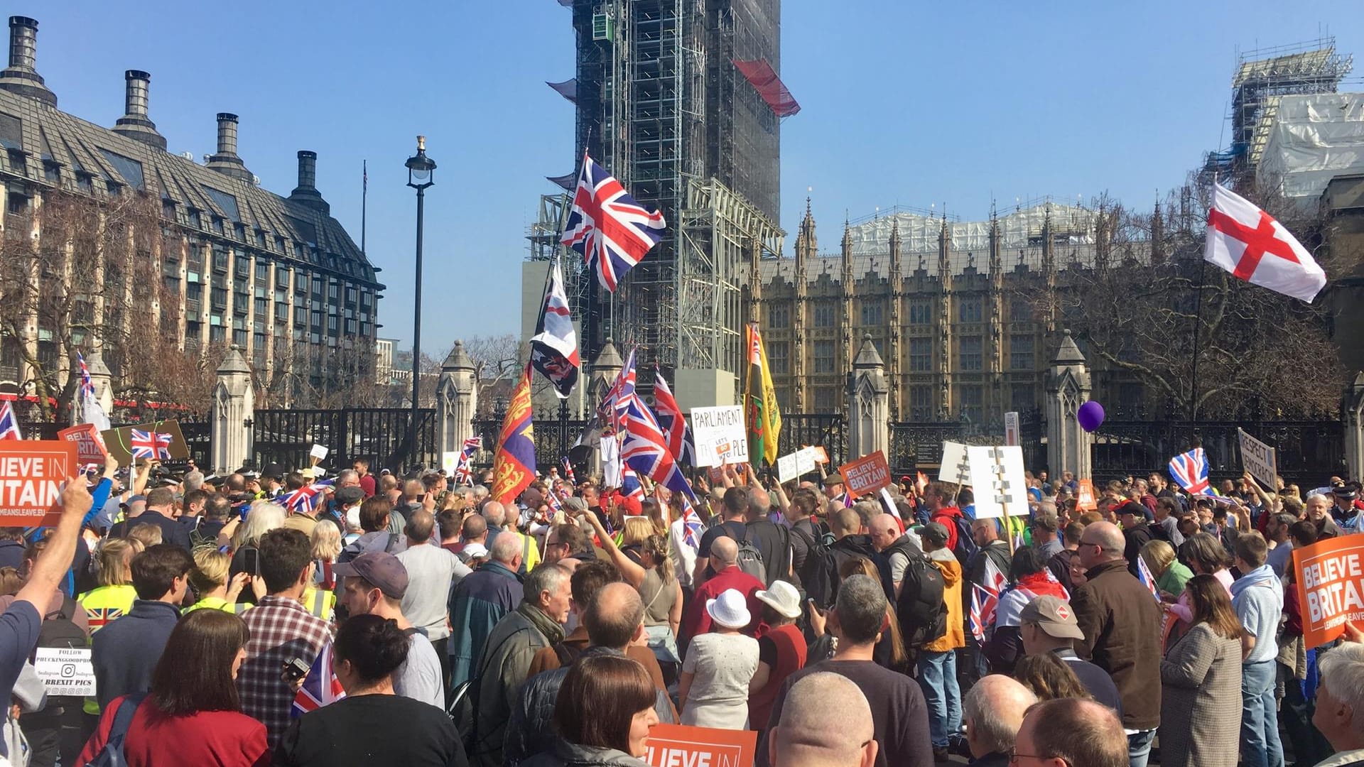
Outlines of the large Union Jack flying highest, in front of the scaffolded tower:
{"type": "Polygon", "coordinates": [[[573,194],[573,209],[563,229],[563,244],[582,254],[607,291],[663,239],[663,214],[649,213],[621,182],[582,153],[582,171],[573,194]]]}

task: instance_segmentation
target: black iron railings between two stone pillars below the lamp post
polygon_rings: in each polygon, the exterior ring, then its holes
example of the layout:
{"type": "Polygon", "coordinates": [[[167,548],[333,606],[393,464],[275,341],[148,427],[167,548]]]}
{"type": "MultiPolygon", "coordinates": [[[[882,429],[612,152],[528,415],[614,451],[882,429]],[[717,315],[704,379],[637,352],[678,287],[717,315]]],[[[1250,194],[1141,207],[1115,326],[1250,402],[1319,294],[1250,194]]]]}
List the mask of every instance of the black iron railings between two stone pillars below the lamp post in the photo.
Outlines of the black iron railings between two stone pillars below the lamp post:
{"type": "Polygon", "coordinates": [[[252,414],[255,465],[277,463],[284,468],[308,465],[308,450],[322,445],[330,450],[323,465],[333,471],[351,468],[356,459],[381,468],[404,471],[421,465],[438,468],[435,409],[417,411],[416,460],[412,460],[412,411],[406,408],[346,409],[265,409],[252,414]]]}

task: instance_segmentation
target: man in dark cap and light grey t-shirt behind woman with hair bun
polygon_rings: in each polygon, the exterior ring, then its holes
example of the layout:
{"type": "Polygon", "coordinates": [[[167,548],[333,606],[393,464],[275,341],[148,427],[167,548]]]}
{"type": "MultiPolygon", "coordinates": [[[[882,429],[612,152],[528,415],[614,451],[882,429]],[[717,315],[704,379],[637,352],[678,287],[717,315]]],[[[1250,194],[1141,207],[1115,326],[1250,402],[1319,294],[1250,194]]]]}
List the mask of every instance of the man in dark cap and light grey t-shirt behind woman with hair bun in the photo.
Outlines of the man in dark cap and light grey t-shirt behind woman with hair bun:
{"type": "Polygon", "coordinates": [[[393,692],[445,711],[441,659],[421,629],[402,614],[402,598],[408,591],[408,570],[402,562],[393,554],[376,551],[338,564],[334,572],[342,579],[341,603],[349,614],[391,620],[408,636],[408,659],[393,673],[393,692]]]}

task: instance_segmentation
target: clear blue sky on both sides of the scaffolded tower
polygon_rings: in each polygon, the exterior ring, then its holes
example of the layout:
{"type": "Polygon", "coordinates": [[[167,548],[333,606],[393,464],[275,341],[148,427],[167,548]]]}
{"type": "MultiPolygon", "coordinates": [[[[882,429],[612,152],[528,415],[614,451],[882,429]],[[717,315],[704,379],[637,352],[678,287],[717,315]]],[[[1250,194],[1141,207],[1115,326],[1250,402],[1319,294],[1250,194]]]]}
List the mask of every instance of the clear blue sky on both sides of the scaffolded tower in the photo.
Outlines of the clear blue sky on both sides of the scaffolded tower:
{"type": "MultiPolygon", "coordinates": [[[[172,151],[213,151],[214,115],[236,112],[240,154],[266,188],[289,194],[295,153],[318,153],[318,187],[357,240],[368,160],[368,252],[389,285],[381,333],[404,344],[415,205],[402,162],[426,134],[439,169],[423,348],[518,330],[525,229],[552,191],[544,176],[577,154],[573,106],[544,86],[574,74],[570,15],[554,0],[7,10],[40,20],[38,71],[64,111],[112,126],[123,71],[147,70],[172,151]]],[[[788,250],[806,187],[821,250],[844,210],[898,202],[945,202],[964,218],[985,217],[992,191],[1150,205],[1218,142],[1237,46],[1329,31],[1364,56],[1359,0],[786,0],[782,16],[782,76],[803,106],[782,126],[788,250]]]]}

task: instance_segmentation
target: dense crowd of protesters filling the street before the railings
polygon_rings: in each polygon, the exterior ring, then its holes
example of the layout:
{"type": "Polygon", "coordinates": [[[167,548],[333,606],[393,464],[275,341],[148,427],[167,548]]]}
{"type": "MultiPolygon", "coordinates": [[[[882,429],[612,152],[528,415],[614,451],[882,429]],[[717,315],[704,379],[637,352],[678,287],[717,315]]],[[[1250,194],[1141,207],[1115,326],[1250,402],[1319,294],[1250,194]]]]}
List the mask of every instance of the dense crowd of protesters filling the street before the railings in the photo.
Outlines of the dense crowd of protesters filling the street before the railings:
{"type": "Polygon", "coordinates": [[[1361,531],[1357,483],[1027,480],[977,519],[922,475],[110,460],[0,528],[0,763],[641,766],[678,723],[762,767],[1364,764],[1364,636],[1304,647],[1290,555],[1361,531]],[[94,695],[38,648],[90,648],[94,695]]]}

